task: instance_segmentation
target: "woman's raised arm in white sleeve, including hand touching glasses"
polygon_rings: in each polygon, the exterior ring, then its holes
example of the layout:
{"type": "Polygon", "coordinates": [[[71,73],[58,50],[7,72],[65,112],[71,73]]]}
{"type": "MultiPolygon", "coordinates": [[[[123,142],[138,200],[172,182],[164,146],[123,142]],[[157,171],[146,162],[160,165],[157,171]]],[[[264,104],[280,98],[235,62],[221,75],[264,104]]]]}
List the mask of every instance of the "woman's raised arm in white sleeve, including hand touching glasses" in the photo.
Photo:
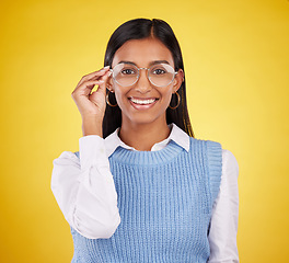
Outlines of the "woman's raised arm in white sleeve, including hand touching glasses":
{"type": "Polygon", "coordinates": [[[102,138],[108,68],[84,76],[72,92],[82,116],[79,157],[65,151],[54,160],[51,191],[69,225],[90,238],[111,238],[120,217],[117,193],[102,138]],[[91,93],[95,84],[99,89],[91,93]]]}

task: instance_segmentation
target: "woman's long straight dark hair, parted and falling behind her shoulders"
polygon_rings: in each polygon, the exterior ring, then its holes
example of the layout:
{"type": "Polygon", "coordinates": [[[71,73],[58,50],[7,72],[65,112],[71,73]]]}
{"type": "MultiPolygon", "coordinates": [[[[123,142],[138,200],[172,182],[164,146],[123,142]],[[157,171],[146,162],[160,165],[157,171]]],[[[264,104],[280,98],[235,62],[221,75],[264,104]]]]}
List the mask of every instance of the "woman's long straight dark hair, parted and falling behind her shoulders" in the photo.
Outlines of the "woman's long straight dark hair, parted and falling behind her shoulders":
{"type": "MultiPolygon", "coordinates": [[[[122,47],[126,42],[131,39],[142,39],[147,37],[154,37],[161,41],[172,53],[175,65],[175,71],[182,69],[185,73],[182,52],[178,42],[174,35],[174,32],[166,22],[159,19],[153,19],[153,20],[135,19],[127,21],[126,23],[117,27],[107,43],[105,58],[104,58],[104,66],[112,67],[116,50],[119,47],[122,47]]],[[[109,91],[106,90],[106,92],[109,91]]],[[[177,92],[181,96],[181,103],[178,107],[175,110],[172,110],[170,107],[166,108],[166,123],[167,124],[174,123],[185,133],[187,133],[188,136],[195,137],[190,126],[188,111],[187,111],[185,78],[177,92]]],[[[115,96],[111,96],[109,101],[112,104],[116,104],[115,96]]],[[[173,95],[171,105],[176,105],[176,104],[177,104],[177,96],[173,95]]],[[[115,129],[120,126],[122,126],[120,108],[118,106],[112,107],[107,105],[103,119],[103,137],[104,138],[107,137],[109,134],[115,132],[115,129]]]]}

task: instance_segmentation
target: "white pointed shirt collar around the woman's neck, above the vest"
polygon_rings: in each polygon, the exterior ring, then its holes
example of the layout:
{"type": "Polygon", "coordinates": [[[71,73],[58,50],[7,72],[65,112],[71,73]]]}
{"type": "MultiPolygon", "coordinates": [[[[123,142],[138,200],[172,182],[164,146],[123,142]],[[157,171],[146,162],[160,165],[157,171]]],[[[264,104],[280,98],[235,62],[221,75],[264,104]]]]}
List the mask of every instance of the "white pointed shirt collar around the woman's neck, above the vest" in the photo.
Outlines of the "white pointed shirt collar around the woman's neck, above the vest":
{"type": "MultiPolygon", "coordinates": [[[[153,145],[152,150],[157,146],[164,148],[170,142],[170,140],[173,140],[174,142],[183,147],[186,151],[188,151],[189,150],[189,136],[183,129],[177,127],[175,124],[170,124],[169,127],[171,128],[170,136],[166,139],[153,145]]],[[[113,155],[113,152],[116,150],[118,146],[125,149],[136,150],[134,147],[130,147],[120,140],[120,138],[118,137],[118,130],[119,128],[117,128],[113,134],[108,135],[105,138],[105,148],[106,148],[107,157],[113,155]]]]}

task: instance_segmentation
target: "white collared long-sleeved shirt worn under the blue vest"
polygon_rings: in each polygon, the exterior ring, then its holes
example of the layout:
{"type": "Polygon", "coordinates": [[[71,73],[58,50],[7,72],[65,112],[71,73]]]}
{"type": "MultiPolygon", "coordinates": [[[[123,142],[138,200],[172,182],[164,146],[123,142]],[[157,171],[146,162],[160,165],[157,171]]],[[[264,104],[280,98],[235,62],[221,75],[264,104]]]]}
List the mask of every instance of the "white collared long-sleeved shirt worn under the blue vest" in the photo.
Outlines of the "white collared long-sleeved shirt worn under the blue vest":
{"type": "MultiPolygon", "coordinates": [[[[188,135],[175,124],[170,128],[170,136],[153,145],[151,150],[161,150],[170,140],[174,140],[188,151],[188,135]]],[[[96,135],[81,137],[80,159],[71,151],[63,151],[54,160],[53,193],[69,225],[86,238],[109,238],[120,224],[108,157],[119,146],[136,149],[120,140],[118,129],[105,139],[96,135]]],[[[209,263],[239,262],[238,175],[239,165],[234,156],[229,150],[222,150],[220,192],[213,204],[208,236],[211,249],[209,263]]]]}

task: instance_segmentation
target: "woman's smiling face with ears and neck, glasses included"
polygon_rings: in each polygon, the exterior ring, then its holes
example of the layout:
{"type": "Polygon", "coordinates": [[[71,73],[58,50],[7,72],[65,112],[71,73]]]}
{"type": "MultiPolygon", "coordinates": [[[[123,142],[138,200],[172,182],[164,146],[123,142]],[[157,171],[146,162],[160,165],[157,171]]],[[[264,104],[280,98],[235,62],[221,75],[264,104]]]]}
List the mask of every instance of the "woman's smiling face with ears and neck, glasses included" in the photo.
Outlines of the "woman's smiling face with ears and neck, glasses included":
{"type": "Polygon", "coordinates": [[[119,130],[119,137],[135,149],[150,150],[155,141],[165,139],[170,134],[166,108],[172,94],[176,93],[182,84],[183,70],[178,69],[175,73],[171,52],[153,36],[126,42],[115,53],[112,67],[114,78],[108,79],[106,87],[115,93],[122,111],[123,128],[119,130]],[[118,73],[117,68],[123,67],[123,61],[126,61],[125,68],[118,73]],[[146,73],[138,67],[150,68],[146,73]],[[137,126],[139,127],[136,129],[137,126]],[[135,139],[140,128],[147,129],[146,140],[135,139]]]}

